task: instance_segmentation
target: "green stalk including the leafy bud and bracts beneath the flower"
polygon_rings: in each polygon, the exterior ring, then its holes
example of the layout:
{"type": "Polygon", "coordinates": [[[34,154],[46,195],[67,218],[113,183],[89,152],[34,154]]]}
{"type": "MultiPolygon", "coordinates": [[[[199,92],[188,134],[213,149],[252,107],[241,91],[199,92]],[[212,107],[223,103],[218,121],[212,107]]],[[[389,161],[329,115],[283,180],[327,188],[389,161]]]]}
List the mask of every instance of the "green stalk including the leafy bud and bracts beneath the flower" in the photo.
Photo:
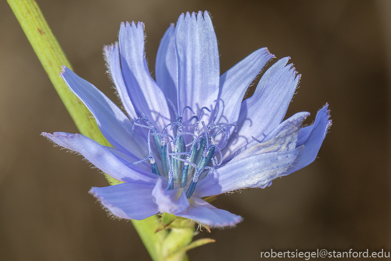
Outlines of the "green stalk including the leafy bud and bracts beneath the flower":
{"type": "MultiPolygon", "coordinates": [[[[80,133],[102,145],[111,146],[100,132],[89,110],[59,77],[62,66],[71,69],[72,66],[50,30],[37,3],[34,0],[7,0],[7,2],[80,133]]],[[[118,184],[117,180],[108,175],[106,177],[109,184],[118,184]]],[[[140,221],[132,220],[136,231],[155,261],[188,260],[185,254],[187,250],[214,242],[212,239],[200,239],[190,243],[194,225],[186,222],[187,224],[181,224],[182,227],[176,224],[178,227],[168,231],[167,229],[159,230],[162,225],[157,215],[140,221]]]]}

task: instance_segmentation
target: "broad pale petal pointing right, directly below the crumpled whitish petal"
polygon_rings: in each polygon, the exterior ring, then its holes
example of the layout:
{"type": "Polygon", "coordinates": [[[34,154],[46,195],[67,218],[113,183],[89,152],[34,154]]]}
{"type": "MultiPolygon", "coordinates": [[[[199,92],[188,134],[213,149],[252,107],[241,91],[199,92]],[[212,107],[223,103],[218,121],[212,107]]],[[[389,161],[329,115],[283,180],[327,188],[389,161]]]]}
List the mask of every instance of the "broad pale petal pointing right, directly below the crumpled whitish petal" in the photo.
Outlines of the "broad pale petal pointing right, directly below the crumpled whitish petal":
{"type": "Polygon", "coordinates": [[[261,187],[281,176],[295,162],[301,147],[249,156],[228,163],[198,182],[195,196],[218,195],[241,188],[261,187]]]}

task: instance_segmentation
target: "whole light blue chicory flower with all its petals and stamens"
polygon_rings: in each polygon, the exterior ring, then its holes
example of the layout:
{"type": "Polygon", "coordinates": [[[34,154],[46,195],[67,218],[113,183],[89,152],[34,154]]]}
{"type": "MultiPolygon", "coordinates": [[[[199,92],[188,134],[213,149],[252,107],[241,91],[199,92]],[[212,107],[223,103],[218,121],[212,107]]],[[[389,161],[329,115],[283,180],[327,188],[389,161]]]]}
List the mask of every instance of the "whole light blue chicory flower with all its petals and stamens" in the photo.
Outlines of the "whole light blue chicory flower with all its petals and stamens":
{"type": "Polygon", "coordinates": [[[258,49],[220,76],[207,12],[182,14],[168,28],[158,49],[156,81],[145,59],[143,23],[122,23],[119,43],[104,51],[127,115],[70,69],[64,67],[61,77],[113,147],[81,134],[43,135],[121,182],[90,190],[119,218],[169,213],[207,226],[233,226],[240,216],[203,198],[265,188],[307,166],[331,125],[328,105],[310,126],[301,127],[307,112],[282,121],[300,78],[287,65],[289,58],[268,69],[255,93],[242,101],[274,56],[258,49]]]}

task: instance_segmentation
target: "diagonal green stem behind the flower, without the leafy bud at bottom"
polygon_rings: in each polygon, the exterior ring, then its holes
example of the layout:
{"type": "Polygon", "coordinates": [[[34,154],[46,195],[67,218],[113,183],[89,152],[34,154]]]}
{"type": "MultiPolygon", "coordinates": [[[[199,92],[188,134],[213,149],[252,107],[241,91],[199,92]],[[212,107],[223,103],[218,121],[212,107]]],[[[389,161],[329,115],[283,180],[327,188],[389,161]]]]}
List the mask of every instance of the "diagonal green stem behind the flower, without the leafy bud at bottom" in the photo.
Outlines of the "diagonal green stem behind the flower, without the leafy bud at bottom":
{"type": "MultiPolygon", "coordinates": [[[[69,91],[66,84],[59,77],[62,65],[71,69],[72,66],[51,32],[37,3],[34,0],[7,0],[7,2],[80,133],[102,145],[111,146],[100,132],[88,109],[69,91]]],[[[118,183],[110,177],[108,177],[108,181],[110,184],[118,183]]],[[[157,220],[158,217],[155,215],[145,220],[132,221],[149,254],[155,261],[161,260],[160,247],[167,235],[165,230],[155,233],[159,224],[157,220]]]]}

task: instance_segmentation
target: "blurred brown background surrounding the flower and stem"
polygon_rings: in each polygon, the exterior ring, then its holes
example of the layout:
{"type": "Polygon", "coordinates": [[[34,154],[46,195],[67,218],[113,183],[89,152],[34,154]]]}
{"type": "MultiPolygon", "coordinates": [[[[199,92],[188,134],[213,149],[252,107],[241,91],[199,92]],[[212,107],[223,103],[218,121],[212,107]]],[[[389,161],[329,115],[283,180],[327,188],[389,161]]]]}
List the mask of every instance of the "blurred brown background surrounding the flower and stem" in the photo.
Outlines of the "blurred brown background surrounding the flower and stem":
{"type": "MultiPolygon", "coordinates": [[[[311,123],[330,103],[333,126],[318,159],[266,189],[220,195],[213,204],[244,222],[201,232],[217,241],[190,250],[191,260],[257,260],[271,248],[391,250],[389,1],[37,3],[75,72],[115,101],[102,48],[117,40],[120,22],[145,22],[152,71],[170,23],[208,10],[221,73],[267,46],[302,74],[287,116],[308,111],[311,123]]],[[[87,193],[107,185],[103,175],[40,136],[77,129],[6,1],[0,39],[0,259],[148,260],[132,224],[107,218],[87,193]]]]}

